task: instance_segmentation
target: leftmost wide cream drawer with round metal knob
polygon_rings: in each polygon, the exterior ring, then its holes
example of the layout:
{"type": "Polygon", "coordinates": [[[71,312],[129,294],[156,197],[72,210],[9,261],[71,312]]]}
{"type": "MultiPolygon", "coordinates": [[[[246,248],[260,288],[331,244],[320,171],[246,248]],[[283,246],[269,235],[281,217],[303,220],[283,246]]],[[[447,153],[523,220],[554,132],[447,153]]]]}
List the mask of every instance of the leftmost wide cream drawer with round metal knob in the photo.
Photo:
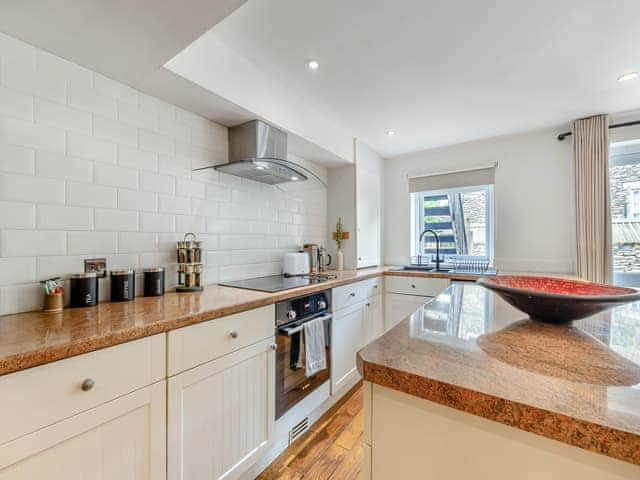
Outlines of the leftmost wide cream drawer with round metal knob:
{"type": "Polygon", "coordinates": [[[163,379],[165,335],[0,377],[0,444],[163,379]],[[83,390],[93,381],[93,387],[83,390]],[[86,381],[86,382],[85,382],[86,381]]]}

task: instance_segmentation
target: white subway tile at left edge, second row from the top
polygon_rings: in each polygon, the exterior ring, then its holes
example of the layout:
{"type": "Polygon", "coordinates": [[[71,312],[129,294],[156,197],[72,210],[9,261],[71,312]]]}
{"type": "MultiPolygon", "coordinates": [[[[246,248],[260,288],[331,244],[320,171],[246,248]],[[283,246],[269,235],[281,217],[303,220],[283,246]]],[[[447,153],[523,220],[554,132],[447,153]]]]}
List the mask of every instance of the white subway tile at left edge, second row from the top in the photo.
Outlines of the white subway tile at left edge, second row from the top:
{"type": "Polygon", "coordinates": [[[34,67],[11,61],[2,62],[0,80],[6,87],[30,93],[40,98],[64,103],[67,100],[67,85],[62,79],[43,75],[34,67]]]}

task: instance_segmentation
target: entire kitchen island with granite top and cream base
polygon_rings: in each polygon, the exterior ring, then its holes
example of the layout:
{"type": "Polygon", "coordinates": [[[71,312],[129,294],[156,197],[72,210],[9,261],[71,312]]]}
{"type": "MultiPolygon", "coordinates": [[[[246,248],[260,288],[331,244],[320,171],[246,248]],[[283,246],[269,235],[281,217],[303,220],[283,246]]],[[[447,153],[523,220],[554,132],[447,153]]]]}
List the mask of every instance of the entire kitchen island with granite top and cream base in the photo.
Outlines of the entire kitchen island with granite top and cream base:
{"type": "Polygon", "coordinates": [[[549,325],[453,284],[358,368],[368,478],[640,478],[640,303],[549,325]]]}

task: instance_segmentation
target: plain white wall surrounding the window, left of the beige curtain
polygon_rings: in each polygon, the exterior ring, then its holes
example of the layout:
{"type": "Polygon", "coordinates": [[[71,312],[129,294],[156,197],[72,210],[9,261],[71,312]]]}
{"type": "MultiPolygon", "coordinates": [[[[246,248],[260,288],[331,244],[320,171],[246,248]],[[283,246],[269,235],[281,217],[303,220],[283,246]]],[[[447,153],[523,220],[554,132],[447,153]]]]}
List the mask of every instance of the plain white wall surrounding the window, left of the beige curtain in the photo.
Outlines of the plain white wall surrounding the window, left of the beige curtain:
{"type": "Polygon", "coordinates": [[[556,139],[558,132],[548,129],[496,137],[386,160],[385,262],[409,261],[411,215],[407,175],[498,162],[494,190],[497,268],[573,272],[572,150],[571,141],[556,139]]]}

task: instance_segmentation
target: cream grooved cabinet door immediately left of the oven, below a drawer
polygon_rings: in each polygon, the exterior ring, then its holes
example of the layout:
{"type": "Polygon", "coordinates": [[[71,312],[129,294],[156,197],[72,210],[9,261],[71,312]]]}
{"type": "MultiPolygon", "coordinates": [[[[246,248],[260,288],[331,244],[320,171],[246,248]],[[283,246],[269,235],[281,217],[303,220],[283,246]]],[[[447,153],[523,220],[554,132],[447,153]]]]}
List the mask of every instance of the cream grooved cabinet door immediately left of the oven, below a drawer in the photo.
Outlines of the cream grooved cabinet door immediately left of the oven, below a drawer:
{"type": "Polygon", "coordinates": [[[171,480],[237,478],[265,451],[275,415],[272,345],[263,340],[168,380],[171,480]]]}

